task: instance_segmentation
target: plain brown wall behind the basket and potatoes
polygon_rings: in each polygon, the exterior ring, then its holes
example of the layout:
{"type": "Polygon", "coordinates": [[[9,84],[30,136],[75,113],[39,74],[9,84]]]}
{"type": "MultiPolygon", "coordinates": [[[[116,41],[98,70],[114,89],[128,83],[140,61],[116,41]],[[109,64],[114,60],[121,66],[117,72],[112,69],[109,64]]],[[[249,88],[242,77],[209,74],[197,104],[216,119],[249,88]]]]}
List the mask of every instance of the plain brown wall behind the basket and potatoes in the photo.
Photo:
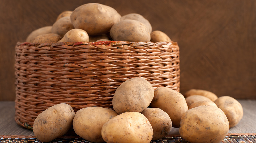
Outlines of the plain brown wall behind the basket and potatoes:
{"type": "Polygon", "coordinates": [[[59,13],[97,2],[139,13],[180,47],[181,88],[256,99],[254,0],[0,0],[0,100],[15,99],[14,47],[59,13]]]}

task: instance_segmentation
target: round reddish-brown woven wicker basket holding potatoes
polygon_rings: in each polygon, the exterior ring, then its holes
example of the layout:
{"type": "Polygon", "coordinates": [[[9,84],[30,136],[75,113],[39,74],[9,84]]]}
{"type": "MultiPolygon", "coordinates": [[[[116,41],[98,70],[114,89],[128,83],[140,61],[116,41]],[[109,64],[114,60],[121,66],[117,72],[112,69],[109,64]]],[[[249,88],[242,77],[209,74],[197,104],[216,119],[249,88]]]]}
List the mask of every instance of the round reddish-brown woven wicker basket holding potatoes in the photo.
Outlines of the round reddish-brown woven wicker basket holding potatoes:
{"type": "Polygon", "coordinates": [[[116,88],[130,78],[144,78],[154,89],[180,89],[176,42],[18,42],[15,50],[15,121],[28,129],[55,104],[75,112],[112,108],[116,88]]]}

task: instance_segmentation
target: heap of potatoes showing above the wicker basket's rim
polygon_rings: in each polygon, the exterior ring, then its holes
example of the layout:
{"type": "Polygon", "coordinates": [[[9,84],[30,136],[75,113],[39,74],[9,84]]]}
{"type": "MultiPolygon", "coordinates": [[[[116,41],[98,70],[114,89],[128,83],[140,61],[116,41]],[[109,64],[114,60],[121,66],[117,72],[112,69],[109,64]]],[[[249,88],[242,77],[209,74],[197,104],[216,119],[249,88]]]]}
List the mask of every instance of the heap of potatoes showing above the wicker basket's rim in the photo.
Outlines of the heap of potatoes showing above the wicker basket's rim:
{"type": "Polygon", "coordinates": [[[121,16],[114,8],[87,3],[74,11],[64,11],[56,18],[52,26],[32,31],[26,42],[170,42],[164,32],[152,32],[150,22],[142,15],[130,13],[121,16]]]}

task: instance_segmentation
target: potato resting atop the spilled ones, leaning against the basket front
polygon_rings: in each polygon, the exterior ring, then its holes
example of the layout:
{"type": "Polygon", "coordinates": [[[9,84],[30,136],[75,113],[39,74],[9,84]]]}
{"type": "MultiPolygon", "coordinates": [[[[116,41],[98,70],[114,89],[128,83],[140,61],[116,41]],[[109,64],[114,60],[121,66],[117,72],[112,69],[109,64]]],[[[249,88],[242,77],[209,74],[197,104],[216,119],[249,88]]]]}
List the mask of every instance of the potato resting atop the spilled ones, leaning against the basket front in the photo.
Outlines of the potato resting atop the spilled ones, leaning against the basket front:
{"type": "Polygon", "coordinates": [[[141,112],[146,109],[154,97],[153,86],[147,80],[136,77],[117,87],[113,99],[113,109],[118,113],[141,112]]]}

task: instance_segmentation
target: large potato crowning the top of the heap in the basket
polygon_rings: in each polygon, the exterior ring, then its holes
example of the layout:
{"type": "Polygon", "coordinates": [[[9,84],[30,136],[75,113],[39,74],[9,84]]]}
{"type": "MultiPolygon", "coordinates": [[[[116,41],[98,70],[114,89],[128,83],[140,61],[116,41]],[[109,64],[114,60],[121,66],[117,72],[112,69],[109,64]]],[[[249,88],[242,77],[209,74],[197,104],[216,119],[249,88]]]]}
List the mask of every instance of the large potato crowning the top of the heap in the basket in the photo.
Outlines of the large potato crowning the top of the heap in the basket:
{"type": "Polygon", "coordinates": [[[106,5],[87,3],[75,8],[70,18],[75,28],[85,30],[88,35],[100,35],[120,21],[120,14],[106,5]]]}

